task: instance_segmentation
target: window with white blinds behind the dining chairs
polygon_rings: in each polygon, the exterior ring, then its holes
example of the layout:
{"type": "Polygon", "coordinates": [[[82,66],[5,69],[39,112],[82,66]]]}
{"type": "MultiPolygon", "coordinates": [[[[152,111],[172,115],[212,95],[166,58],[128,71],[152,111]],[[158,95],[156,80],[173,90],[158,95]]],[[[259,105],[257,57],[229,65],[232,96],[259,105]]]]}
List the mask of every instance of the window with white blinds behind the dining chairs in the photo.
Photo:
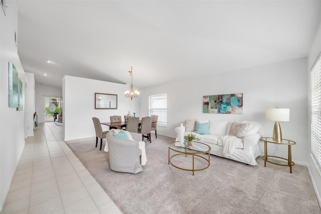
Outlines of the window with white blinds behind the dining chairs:
{"type": "Polygon", "coordinates": [[[167,126],[167,94],[149,96],[149,116],[158,115],[157,126],[167,126]]]}

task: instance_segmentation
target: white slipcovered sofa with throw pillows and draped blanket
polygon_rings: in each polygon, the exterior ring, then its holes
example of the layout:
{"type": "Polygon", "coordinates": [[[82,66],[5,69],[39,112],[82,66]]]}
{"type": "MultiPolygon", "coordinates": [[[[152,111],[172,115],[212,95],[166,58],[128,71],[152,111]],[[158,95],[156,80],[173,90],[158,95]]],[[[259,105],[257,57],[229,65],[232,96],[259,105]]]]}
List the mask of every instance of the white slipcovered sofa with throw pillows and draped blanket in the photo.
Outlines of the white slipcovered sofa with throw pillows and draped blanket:
{"type": "MultiPolygon", "coordinates": [[[[259,123],[254,121],[242,121],[237,123],[228,121],[188,120],[185,121],[185,126],[181,124],[180,127],[175,128],[175,131],[177,133],[177,146],[184,147],[184,136],[192,133],[199,138],[198,141],[211,147],[210,154],[212,155],[225,157],[249,165],[257,165],[255,159],[261,155],[257,144],[263,136],[262,127],[259,123]],[[193,130],[193,121],[196,124],[196,127],[194,127],[195,130],[193,130]],[[199,131],[201,134],[198,134],[197,129],[198,127],[201,127],[201,125],[205,125],[203,126],[203,128],[205,127],[205,130],[207,129],[206,126],[209,125],[209,133],[202,133],[202,131],[199,131]],[[238,130],[240,127],[243,130],[238,130]]],[[[195,149],[202,150],[202,148],[197,148],[197,146],[200,146],[200,144],[193,145],[195,149]]]]}

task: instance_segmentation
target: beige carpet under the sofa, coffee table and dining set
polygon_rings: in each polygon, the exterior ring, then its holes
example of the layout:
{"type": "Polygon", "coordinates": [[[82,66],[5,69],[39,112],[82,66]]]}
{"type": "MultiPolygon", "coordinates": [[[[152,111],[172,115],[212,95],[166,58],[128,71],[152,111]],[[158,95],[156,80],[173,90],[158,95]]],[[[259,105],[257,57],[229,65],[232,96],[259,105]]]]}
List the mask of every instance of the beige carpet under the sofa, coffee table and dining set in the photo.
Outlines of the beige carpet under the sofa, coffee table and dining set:
{"type": "MultiPolygon", "coordinates": [[[[304,166],[290,174],[288,167],[264,167],[261,157],[249,166],[211,155],[211,166],[193,176],[168,164],[174,139],[157,137],[146,142],[147,164],[137,174],[110,170],[95,138],[66,143],[123,213],[321,213],[304,166]]],[[[176,163],[190,161],[178,156],[176,163]]]]}

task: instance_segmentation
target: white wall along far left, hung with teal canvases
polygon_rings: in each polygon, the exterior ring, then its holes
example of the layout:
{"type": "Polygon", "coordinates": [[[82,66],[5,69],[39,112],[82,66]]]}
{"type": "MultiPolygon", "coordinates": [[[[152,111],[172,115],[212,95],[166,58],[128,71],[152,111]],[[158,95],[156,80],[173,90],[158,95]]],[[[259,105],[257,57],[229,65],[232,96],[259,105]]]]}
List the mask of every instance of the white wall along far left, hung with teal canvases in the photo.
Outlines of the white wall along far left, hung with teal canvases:
{"type": "MultiPolygon", "coordinates": [[[[24,145],[26,127],[25,114],[28,105],[25,102],[26,76],[21,65],[15,44],[15,31],[18,31],[18,9],[14,1],[6,1],[6,16],[0,8],[0,210],[2,209],[9,187],[19,163],[24,145]],[[9,108],[9,62],[13,62],[23,84],[23,111],[9,108]]],[[[27,86],[28,87],[28,86],[27,86]]],[[[33,98],[33,97],[30,97],[33,98]]]]}

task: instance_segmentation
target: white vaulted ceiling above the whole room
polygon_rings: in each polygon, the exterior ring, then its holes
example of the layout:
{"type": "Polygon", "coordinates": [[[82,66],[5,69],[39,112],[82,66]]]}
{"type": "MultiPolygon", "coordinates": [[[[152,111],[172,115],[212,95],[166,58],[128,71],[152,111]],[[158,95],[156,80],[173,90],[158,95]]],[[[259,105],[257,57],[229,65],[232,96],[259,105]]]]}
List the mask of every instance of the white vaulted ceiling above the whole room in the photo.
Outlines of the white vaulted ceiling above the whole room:
{"type": "Polygon", "coordinates": [[[16,3],[25,72],[56,88],[64,75],[129,83],[131,66],[143,88],[306,57],[321,20],[320,0],[16,3]]]}

